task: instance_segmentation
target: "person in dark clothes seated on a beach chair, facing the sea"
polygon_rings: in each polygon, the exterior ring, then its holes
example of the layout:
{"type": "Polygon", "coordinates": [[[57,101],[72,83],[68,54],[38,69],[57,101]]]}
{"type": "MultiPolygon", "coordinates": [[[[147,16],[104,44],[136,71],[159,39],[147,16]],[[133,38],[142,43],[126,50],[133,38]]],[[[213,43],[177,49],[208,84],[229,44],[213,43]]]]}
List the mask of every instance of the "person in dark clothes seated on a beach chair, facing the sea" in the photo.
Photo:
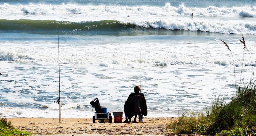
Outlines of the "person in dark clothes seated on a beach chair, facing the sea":
{"type": "Polygon", "coordinates": [[[142,122],[142,115],[147,116],[147,103],[143,93],[140,93],[140,87],[134,87],[134,93],[131,93],[124,104],[125,121],[131,122],[132,117],[135,115],[133,122],[136,122],[137,115],[139,121],[142,122]],[[129,121],[128,121],[129,119],[129,121]]]}

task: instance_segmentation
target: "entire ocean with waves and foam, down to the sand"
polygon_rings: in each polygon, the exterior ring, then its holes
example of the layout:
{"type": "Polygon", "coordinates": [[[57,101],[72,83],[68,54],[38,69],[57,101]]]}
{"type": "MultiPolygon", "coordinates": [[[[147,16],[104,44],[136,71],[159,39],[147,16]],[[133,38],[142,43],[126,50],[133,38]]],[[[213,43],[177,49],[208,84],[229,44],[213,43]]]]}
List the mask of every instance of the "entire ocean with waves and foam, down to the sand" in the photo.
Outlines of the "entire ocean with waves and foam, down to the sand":
{"type": "Polygon", "coordinates": [[[177,117],[254,78],[256,1],[2,0],[0,34],[1,116],[59,118],[59,37],[61,118],[123,112],[136,85],[177,117]]]}

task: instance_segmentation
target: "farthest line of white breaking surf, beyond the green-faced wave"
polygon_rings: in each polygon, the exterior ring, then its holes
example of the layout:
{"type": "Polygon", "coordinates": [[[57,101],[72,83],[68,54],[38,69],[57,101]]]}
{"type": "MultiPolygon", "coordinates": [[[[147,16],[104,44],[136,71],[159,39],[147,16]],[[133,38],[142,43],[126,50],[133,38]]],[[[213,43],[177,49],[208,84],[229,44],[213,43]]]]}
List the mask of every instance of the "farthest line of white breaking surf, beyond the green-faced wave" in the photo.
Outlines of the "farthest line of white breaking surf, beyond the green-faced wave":
{"type": "Polygon", "coordinates": [[[98,15],[98,14],[116,14],[116,15],[156,15],[156,16],[245,16],[256,17],[256,6],[233,6],[233,7],[216,7],[209,6],[207,8],[186,7],[180,4],[179,7],[172,6],[167,2],[162,7],[157,6],[107,6],[107,5],[78,5],[65,4],[60,5],[46,5],[33,4],[28,5],[11,5],[4,3],[0,5],[0,13],[31,13],[31,14],[84,14],[84,15],[98,15]]]}

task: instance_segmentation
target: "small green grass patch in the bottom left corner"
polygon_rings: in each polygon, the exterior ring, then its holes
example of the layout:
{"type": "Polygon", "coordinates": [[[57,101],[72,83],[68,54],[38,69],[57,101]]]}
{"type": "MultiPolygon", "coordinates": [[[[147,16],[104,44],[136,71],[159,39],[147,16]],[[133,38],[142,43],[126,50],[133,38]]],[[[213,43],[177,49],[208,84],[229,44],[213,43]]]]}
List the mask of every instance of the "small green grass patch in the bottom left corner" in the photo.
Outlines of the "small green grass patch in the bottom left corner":
{"type": "Polygon", "coordinates": [[[0,136],[31,136],[31,134],[15,129],[10,121],[0,116],[0,136]]]}

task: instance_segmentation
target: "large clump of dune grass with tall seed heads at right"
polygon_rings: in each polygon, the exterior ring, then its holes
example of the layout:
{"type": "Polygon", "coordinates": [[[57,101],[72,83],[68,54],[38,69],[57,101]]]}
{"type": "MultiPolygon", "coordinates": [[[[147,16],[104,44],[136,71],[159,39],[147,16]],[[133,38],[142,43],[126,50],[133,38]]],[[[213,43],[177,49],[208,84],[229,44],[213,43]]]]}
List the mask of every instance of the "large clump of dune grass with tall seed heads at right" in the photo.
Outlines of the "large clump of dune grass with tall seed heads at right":
{"type": "MultiPolygon", "coordinates": [[[[244,36],[242,38],[243,40],[240,40],[240,42],[244,44],[244,54],[247,51],[250,55],[244,41],[244,36]]],[[[228,48],[228,51],[231,52],[228,44],[224,41],[221,42],[228,48]]],[[[252,62],[252,71],[255,63],[253,65],[252,62]]],[[[240,75],[242,75],[242,71],[240,75]]],[[[234,76],[236,82],[235,66],[234,76]]],[[[236,93],[231,96],[228,102],[225,98],[219,96],[212,99],[210,108],[208,108],[206,112],[184,112],[176,121],[171,122],[166,127],[167,132],[203,135],[230,133],[231,136],[245,136],[246,133],[248,134],[249,130],[255,130],[256,84],[253,72],[250,82],[247,85],[244,84],[244,80],[242,76],[240,76],[238,84],[235,83],[236,93]]],[[[251,132],[253,133],[253,131],[251,132]]]]}

